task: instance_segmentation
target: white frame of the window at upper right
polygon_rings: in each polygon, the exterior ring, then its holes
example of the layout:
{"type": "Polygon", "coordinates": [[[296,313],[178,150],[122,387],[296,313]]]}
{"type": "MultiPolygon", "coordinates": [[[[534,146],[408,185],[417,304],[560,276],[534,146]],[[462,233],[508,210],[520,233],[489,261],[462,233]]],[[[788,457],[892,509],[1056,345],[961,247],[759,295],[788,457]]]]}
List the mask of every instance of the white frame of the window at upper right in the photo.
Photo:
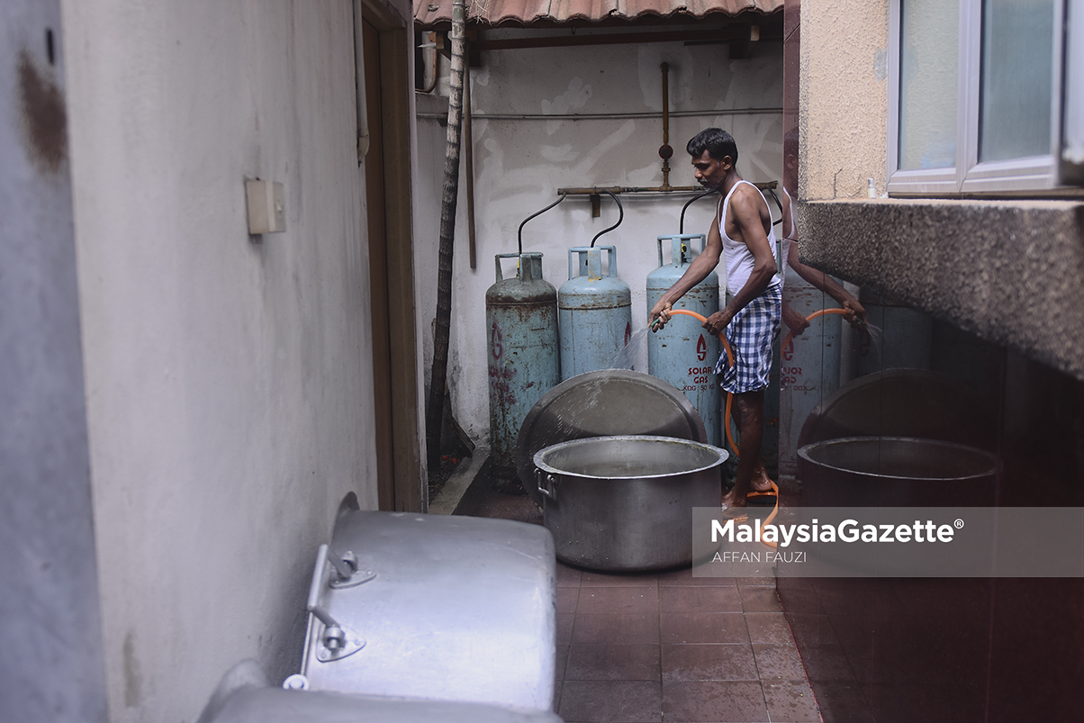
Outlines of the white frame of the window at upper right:
{"type": "MultiPolygon", "coordinates": [[[[979,158],[979,69],[982,59],[982,0],[959,0],[956,164],[953,168],[900,170],[900,56],[902,3],[889,2],[888,192],[890,195],[959,195],[1035,192],[1084,177],[1084,0],[1056,0],[1050,43],[1050,152],[1012,160],[979,158]],[[1080,18],[1070,25],[1069,17],[1080,18]],[[1070,52],[1063,52],[1067,37],[1070,52]],[[1066,82],[1062,81],[1064,77],[1066,82]],[[1066,134],[1062,138],[1062,112],[1066,134]],[[1064,146],[1066,153],[1062,153],[1064,146]],[[1069,150],[1074,149],[1075,155],[1069,150]],[[1069,160],[1081,156],[1077,163],[1069,160]]],[[[1076,181],[1079,182],[1079,181],[1076,181]]]]}

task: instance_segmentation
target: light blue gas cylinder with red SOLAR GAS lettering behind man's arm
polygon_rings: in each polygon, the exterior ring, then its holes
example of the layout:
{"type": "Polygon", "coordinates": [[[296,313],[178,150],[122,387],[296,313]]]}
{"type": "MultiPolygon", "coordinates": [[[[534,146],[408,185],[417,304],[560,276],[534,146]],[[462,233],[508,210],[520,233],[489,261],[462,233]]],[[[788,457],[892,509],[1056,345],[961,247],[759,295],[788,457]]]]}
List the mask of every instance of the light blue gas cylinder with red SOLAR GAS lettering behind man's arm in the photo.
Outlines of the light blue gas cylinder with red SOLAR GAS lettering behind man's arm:
{"type": "MultiPolygon", "coordinates": [[[[647,308],[651,309],[688,264],[704,253],[702,233],[659,236],[659,268],[647,274],[647,308]],[[699,248],[693,242],[699,243],[699,248]],[[662,246],[671,247],[670,262],[662,262],[662,246]]],[[[685,293],[674,309],[688,309],[701,317],[719,311],[719,274],[714,271],[685,293]]],[[[719,385],[712,370],[719,361],[719,338],[709,334],[693,317],[680,314],[663,328],[647,335],[647,373],[669,382],[685,396],[704,419],[708,443],[719,444],[722,434],[719,385]]]]}

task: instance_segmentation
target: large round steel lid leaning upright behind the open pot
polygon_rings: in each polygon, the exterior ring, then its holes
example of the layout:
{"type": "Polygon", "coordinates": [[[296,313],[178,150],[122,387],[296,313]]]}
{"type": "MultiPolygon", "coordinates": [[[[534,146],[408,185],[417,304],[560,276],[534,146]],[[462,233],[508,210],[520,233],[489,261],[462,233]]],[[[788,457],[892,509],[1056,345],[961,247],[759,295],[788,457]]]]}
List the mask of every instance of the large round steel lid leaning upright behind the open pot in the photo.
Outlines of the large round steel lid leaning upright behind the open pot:
{"type": "Polygon", "coordinates": [[[588,372],[558,384],[527,413],[516,443],[519,481],[541,507],[535,452],[573,439],[621,435],[708,441],[699,412],[671,384],[633,370],[588,372]]]}

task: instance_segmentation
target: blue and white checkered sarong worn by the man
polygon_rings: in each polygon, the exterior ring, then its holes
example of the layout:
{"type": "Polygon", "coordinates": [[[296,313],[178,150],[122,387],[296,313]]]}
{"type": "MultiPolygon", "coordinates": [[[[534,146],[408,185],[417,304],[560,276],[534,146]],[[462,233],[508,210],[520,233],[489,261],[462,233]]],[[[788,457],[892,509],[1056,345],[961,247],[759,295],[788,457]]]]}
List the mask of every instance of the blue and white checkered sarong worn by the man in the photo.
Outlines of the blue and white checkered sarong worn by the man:
{"type": "Polygon", "coordinates": [[[726,340],[734,352],[730,366],[726,350],[715,362],[715,374],[722,374],[719,386],[723,391],[740,395],[767,386],[772,371],[772,343],[779,332],[783,317],[783,287],[770,286],[739,311],[726,327],[726,340]]]}

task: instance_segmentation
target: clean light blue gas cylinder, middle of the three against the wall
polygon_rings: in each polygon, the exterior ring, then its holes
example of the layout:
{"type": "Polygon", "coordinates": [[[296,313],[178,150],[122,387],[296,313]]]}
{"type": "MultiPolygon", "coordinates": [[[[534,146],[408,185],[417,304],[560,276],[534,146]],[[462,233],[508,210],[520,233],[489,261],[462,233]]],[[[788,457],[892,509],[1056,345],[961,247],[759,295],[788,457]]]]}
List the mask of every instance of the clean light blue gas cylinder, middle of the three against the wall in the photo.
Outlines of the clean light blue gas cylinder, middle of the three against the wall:
{"type": "MultiPolygon", "coordinates": [[[[632,289],[617,275],[617,248],[568,249],[568,281],[557,289],[560,379],[615,369],[632,336],[632,289]],[[603,251],[606,273],[603,274],[603,251]]],[[[632,369],[632,364],[621,364],[632,369]]]]}

